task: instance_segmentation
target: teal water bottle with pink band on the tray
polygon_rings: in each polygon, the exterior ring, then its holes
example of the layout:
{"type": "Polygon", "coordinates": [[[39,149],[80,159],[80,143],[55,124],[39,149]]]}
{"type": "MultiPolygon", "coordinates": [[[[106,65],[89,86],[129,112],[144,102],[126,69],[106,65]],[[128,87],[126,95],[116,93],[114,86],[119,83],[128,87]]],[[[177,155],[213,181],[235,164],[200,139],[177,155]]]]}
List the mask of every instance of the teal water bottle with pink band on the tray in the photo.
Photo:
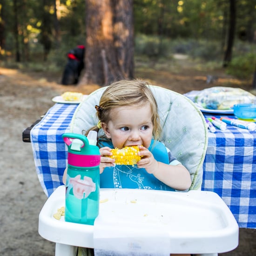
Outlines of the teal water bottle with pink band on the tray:
{"type": "Polygon", "coordinates": [[[68,148],[65,221],[93,225],[99,214],[101,155],[97,133],[96,139],[89,135],[62,135],[68,148]]]}

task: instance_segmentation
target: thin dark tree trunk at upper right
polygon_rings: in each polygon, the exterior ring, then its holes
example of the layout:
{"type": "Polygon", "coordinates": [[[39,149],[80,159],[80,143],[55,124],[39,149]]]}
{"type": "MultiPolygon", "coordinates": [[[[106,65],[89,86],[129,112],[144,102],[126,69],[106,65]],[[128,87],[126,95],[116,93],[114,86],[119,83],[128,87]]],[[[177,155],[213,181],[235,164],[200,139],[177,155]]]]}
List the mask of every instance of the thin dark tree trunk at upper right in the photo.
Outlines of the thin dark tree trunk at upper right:
{"type": "Polygon", "coordinates": [[[232,48],[236,29],[236,0],[229,0],[229,35],[228,45],[224,55],[223,67],[227,67],[232,59],[232,48]]]}

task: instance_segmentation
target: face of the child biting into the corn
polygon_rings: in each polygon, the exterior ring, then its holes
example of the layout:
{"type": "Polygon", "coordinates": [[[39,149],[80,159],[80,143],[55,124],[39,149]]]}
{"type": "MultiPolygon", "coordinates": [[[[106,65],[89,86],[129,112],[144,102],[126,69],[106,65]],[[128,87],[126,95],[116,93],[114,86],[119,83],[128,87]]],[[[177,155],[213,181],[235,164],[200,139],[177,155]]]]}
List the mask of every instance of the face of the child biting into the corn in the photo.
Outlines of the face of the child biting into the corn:
{"type": "Polygon", "coordinates": [[[144,106],[114,108],[110,121],[101,124],[114,148],[143,145],[148,148],[153,134],[152,112],[149,103],[144,106]]]}

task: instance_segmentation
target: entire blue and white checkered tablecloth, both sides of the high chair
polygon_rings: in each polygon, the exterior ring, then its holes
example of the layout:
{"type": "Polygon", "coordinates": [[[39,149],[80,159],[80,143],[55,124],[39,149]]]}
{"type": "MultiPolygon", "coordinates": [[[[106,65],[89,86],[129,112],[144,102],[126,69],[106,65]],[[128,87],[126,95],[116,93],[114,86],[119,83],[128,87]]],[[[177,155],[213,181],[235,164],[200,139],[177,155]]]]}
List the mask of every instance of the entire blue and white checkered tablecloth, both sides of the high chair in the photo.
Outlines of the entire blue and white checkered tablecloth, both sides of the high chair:
{"type": "MultiPolygon", "coordinates": [[[[56,103],[31,130],[36,171],[47,196],[63,184],[67,147],[61,135],[69,132],[77,106],[56,103]]],[[[209,132],[203,170],[202,190],[220,195],[240,228],[256,228],[256,131],[228,125],[209,132]]]]}

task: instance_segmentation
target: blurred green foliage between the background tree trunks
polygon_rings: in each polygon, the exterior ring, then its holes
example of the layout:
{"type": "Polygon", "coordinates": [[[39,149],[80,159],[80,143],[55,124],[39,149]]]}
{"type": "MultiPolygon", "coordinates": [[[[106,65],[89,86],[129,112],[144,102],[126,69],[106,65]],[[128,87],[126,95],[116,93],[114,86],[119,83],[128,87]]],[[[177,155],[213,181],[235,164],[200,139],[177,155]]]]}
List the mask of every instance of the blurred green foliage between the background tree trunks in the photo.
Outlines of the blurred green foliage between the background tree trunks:
{"type": "MultiPolygon", "coordinates": [[[[16,1],[17,17],[13,9],[14,1],[2,1],[0,24],[4,24],[5,41],[4,50],[0,49],[2,56],[6,57],[4,54],[8,52],[14,59],[18,49],[21,61],[41,62],[43,45],[46,46],[42,40],[44,34],[45,39],[51,40],[47,60],[63,68],[67,52],[78,44],[85,44],[85,2],[60,1],[60,41],[57,47],[54,1],[16,1]],[[17,33],[13,30],[15,18],[19,25],[17,33]]],[[[236,7],[236,44],[233,48],[234,62],[230,64],[230,69],[232,65],[239,64],[239,60],[234,64],[236,58],[255,52],[252,44],[245,43],[253,41],[256,30],[255,0],[236,1],[236,7]]],[[[179,53],[194,59],[222,61],[228,31],[229,0],[134,0],[134,18],[136,55],[159,60],[179,53]]],[[[244,64],[244,68],[246,66],[244,64]]]]}

